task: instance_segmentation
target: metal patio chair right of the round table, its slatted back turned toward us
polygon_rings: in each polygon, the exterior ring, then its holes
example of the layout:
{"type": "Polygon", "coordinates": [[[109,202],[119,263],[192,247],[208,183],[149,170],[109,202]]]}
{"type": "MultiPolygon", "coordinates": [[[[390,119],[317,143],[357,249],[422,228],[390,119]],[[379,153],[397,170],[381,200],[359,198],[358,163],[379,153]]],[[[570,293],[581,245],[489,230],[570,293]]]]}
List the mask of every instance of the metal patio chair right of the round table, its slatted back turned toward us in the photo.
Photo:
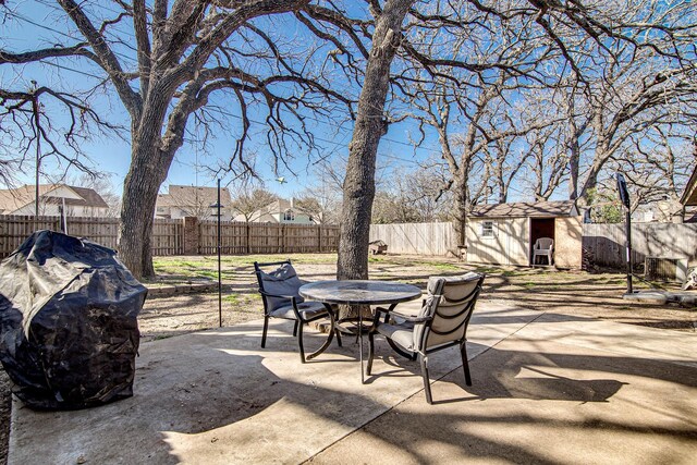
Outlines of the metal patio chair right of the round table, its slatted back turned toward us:
{"type": "Polygon", "coordinates": [[[401,355],[411,359],[418,357],[426,401],[429,404],[432,404],[433,400],[428,379],[428,356],[433,352],[458,346],[465,382],[472,386],[466,334],[484,279],[485,276],[479,273],[448,278],[433,277],[428,281],[427,295],[418,311],[401,313],[398,306],[388,314],[384,308],[378,308],[372,329],[368,333],[368,375],[372,369],[375,356],[375,334],[380,333],[388,339],[390,345],[396,344],[402,348],[396,350],[401,355]]]}

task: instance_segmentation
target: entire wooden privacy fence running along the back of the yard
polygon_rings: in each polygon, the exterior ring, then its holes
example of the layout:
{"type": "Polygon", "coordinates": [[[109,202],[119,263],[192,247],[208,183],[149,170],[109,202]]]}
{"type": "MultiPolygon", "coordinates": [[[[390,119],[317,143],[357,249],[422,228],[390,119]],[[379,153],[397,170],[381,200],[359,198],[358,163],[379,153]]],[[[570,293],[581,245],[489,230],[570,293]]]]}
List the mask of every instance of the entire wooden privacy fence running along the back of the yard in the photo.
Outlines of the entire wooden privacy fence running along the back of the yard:
{"type": "MultiPolygon", "coordinates": [[[[0,258],[10,255],[32,232],[60,231],[58,217],[0,216],[0,258]]],[[[156,219],[152,254],[212,255],[217,252],[216,221],[156,219]]],[[[68,218],[68,232],[115,248],[117,218],[68,218]]],[[[382,240],[388,252],[442,256],[456,246],[452,223],[372,224],[370,241],[382,240]]],[[[633,259],[643,264],[647,256],[687,258],[697,265],[697,224],[635,223],[632,227],[633,259]]],[[[625,232],[623,224],[583,224],[584,254],[591,264],[622,267],[625,232]]],[[[277,223],[221,222],[223,254],[292,254],[335,252],[339,227],[277,223]]]]}

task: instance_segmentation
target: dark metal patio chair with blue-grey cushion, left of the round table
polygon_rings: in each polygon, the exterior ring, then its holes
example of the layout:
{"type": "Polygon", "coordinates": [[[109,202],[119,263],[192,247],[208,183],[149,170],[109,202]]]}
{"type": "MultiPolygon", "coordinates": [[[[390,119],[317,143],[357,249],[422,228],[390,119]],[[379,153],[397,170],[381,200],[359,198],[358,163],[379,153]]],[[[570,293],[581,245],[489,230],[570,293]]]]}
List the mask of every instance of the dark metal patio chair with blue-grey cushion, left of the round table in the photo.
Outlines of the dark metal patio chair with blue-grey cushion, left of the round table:
{"type": "Polygon", "coordinates": [[[264,302],[264,332],[261,334],[261,347],[266,346],[266,334],[269,327],[269,318],[294,320],[293,336],[297,336],[297,345],[303,363],[315,358],[329,347],[337,332],[337,342],[341,346],[341,335],[337,331],[334,315],[328,310],[321,302],[305,302],[298,294],[303,284],[307,284],[297,277],[291,260],[274,261],[268,264],[254,262],[254,271],[259,283],[259,293],[264,302]],[[305,356],[303,344],[303,327],[309,322],[328,319],[329,334],[327,341],[317,351],[305,356]]]}

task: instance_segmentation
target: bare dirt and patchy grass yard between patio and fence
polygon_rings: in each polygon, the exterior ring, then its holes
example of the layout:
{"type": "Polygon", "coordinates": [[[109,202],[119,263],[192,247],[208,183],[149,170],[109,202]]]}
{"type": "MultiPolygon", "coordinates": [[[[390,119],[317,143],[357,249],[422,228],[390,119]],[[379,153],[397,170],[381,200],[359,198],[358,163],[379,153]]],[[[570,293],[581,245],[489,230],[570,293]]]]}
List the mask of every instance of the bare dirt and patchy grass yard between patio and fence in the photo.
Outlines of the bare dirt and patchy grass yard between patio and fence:
{"type": "MultiPolygon", "coordinates": [[[[186,294],[149,298],[138,326],[142,341],[170,338],[192,331],[258,319],[262,304],[257,293],[252,264],[285,257],[224,257],[221,314],[217,293],[186,294]]],[[[291,257],[298,274],[308,281],[334,279],[335,255],[297,255],[291,257]]],[[[211,257],[159,258],[161,273],[205,276],[217,270],[211,257]]],[[[697,311],[677,306],[628,302],[622,298],[622,274],[554,271],[528,268],[475,267],[455,259],[407,256],[375,256],[369,260],[370,279],[399,280],[425,287],[429,276],[486,272],[481,299],[504,301],[538,311],[601,318],[667,330],[695,332],[697,311]]],[[[175,282],[176,279],[168,281],[175,282]]],[[[0,464],[7,463],[10,428],[10,383],[0,370],[0,464]]]]}

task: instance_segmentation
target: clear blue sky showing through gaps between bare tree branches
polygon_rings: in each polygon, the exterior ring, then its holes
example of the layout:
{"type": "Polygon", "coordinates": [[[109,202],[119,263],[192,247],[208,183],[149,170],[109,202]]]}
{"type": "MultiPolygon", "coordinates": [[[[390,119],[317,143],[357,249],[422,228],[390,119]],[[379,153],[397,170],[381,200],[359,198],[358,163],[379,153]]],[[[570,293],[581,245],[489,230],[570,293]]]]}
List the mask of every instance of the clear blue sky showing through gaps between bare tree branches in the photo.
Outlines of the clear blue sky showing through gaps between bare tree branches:
{"type": "MultiPolygon", "coordinates": [[[[90,5],[95,9],[103,8],[110,16],[113,16],[117,11],[117,7],[112,7],[111,3],[95,2],[90,5]]],[[[279,22],[281,27],[285,24],[282,20],[274,21],[279,22]]],[[[65,24],[62,14],[50,14],[50,10],[47,9],[44,0],[17,3],[15,12],[9,13],[4,23],[0,23],[0,47],[19,52],[39,47],[50,47],[53,44],[74,44],[76,39],[66,37],[65,33],[73,28],[74,26],[69,27],[69,25],[65,24]]],[[[131,35],[131,30],[124,28],[123,38],[126,42],[129,40],[131,40],[131,42],[133,41],[131,35]]],[[[289,40],[298,39],[297,36],[293,37],[292,30],[290,30],[288,35],[291,37],[289,40]]],[[[323,53],[326,53],[326,51],[323,51],[323,53]]],[[[123,60],[126,69],[134,69],[132,50],[127,47],[122,47],[117,49],[117,54],[123,60]]],[[[85,59],[30,64],[23,66],[20,72],[9,66],[4,69],[0,68],[0,83],[2,86],[16,89],[27,88],[32,79],[39,83],[39,85],[56,86],[58,84],[68,90],[84,89],[97,83],[99,76],[103,76],[103,72],[85,59]]],[[[118,98],[114,97],[111,86],[106,86],[106,94],[97,96],[97,98],[93,100],[95,101],[95,108],[111,122],[127,127],[129,118],[125,109],[118,98]]],[[[355,88],[346,89],[346,91],[354,93],[355,90],[355,88]]],[[[207,169],[207,167],[217,167],[221,161],[224,162],[224,160],[229,159],[235,145],[235,135],[239,134],[241,124],[236,107],[234,107],[234,105],[231,106],[230,100],[222,99],[220,95],[213,94],[213,96],[217,100],[211,99],[213,100],[212,103],[223,107],[224,111],[229,113],[229,124],[223,129],[213,131],[215,137],[210,139],[207,150],[200,147],[200,145],[185,144],[184,147],[179,150],[170,168],[169,175],[160,187],[161,192],[166,192],[169,184],[216,185],[216,175],[212,174],[211,170],[207,169]]],[[[393,107],[399,110],[400,103],[393,103],[393,107]]],[[[61,115],[58,113],[53,113],[53,115],[57,120],[61,119],[61,115]]],[[[254,119],[255,114],[253,113],[250,117],[254,119]]],[[[311,117],[309,118],[310,120],[313,119],[311,117]]],[[[64,115],[63,120],[65,120],[64,115]]],[[[258,117],[257,120],[264,120],[264,117],[258,117]]],[[[268,147],[265,146],[266,137],[262,133],[256,133],[253,140],[247,144],[247,147],[257,154],[255,168],[267,188],[282,196],[290,197],[314,184],[313,160],[316,160],[318,156],[327,157],[330,162],[337,166],[340,166],[342,163],[341,160],[347,157],[347,145],[353,131],[351,121],[340,126],[320,121],[313,121],[311,124],[314,125],[314,134],[319,152],[315,154],[313,159],[308,158],[304,152],[294,154],[288,169],[280,167],[278,173],[273,172],[272,157],[268,147]],[[293,174],[293,172],[295,174],[293,174]],[[283,184],[276,182],[277,176],[284,176],[286,182],[283,184]]],[[[188,130],[194,131],[193,118],[189,119],[188,130]]],[[[0,135],[0,137],[2,136],[0,135]]],[[[382,137],[378,150],[378,167],[382,167],[383,169],[387,167],[388,170],[386,179],[389,179],[389,170],[391,169],[405,171],[417,170],[419,169],[419,162],[426,160],[433,161],[439,158],[439,143],[433,132],[428,132],[427,129],[426,139],[419,147],[414,147],[412,140],[418,138],[418,127],[415,123],[409,122],[409,120],[390,125],[389,132],[382,137]]],[[[120,194],[123,179],[130,163],[131,147],[127,132],[124,131],[123,138],[113,135],[96,136],[90,140],[84,142],[82,149],[89,156],[91,167],[110,174],[114,191],[117,194],[120,194]]],[[[50,167],[49,163],[49,161],[45,162],[44,167],[50,167]]],[[[48,168],[47,171],[52,171],[54,176],[62,172],[62,170],[54,169],[53,167],[48,168]]],[[[77,170],[72,170],[69,174],[74,179],[80,173],[77,170]]],[[[32,160],[23,166],[23,172],[17,174],[17,180],[21,183],[34,183],[34,163],[32,160]]],[[[230,184],[231,180],[232,178],[230,175],[223,176],[223,185],[230,184]]],[[[41,180],[42,183],[50,181],[51,180],[47,178],[41,180]]],[[[233,189],[233,195],[237,185],[236,183],[230,184],[230,187],[233,189]]],[[[530,193],[523,191],[523,187],[514,184],[510,187],[509,199],[526,199],[526,197],[529,197],[530,193]]],[[[564,194],[565,188],[561,188],[560,192],[564,194]]]]}

